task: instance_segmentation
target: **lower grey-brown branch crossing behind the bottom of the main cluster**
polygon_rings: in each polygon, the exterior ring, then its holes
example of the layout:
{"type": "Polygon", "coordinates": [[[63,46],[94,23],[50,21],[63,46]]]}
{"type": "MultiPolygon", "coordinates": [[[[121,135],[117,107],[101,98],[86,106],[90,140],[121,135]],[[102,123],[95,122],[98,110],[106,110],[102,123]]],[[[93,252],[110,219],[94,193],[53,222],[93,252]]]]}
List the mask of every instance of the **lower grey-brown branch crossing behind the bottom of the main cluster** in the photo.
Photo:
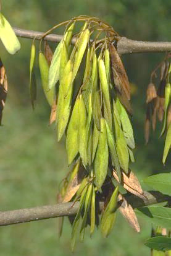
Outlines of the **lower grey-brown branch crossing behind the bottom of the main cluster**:
{"type": "MultiPolygon", "coordinates": [[[[125,198],[127,198],[128,202],[133,206],[133,208],[140,208],[145,205],[152,205],[162,201],[171,201],[171,196],[165,196],[159,192],[144,192],[144,198],[138,198],[137,196],[127,194],[125,195],[125,198]]],[[[122,202],[120,203],[122,205],[122,202]]],[[[0,226],[56,218],[59,216],[70,216],[77,213],[78,207],[79,202],[75,203],[74,205],[73,202],[71,202],[13,211],[2,211],[0,212],[0,226]]],[[[102,207],[103,203],[100,203],[100,210],[102,207]]]]}

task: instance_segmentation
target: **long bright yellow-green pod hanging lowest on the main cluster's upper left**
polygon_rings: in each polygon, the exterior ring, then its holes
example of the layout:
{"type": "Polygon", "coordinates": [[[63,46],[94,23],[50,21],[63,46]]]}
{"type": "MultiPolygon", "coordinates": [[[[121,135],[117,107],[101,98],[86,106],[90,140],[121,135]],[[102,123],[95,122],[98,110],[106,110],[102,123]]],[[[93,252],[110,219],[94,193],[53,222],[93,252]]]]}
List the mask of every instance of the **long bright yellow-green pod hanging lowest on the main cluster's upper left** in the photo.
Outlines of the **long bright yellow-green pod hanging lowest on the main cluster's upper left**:
{"type": "Polygon", "coordinates": [[[64,135],[65,128],[69,121],[70,108],[72,103],[72,61],[68,61],[64,69],[64,76],[60,81],[57,100],[57,141],[64,135]]]}

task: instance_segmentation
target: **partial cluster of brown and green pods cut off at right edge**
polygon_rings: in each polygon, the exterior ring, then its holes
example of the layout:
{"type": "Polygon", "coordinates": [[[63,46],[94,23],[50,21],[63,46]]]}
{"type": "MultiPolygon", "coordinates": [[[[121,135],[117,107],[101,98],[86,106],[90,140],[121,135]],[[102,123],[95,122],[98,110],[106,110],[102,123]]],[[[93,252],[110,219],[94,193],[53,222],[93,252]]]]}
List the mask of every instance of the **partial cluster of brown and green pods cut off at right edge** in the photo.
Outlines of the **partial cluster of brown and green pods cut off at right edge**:
{"type": "Polygon", "coordinates": [[[145,139],[146,143],[149,140],[150,123],[152,121],[152,129],[156,130],[156,119],[162,122],[161,135],[166,133],[164,154],[162,162],[165,164],[165,160],[169,153],[171,146],[171,86],[170,86],[170,73],[171,63],[169,61],[170,53],[166,55],[164,61],[162,61],[151,73],[151,82],[148,85],[146,92],[146,121],[145,121],[145,139]],[[153,82],[154,77],[157,77],[157,71],[160,69],[160,81],[158,89],[153,82]]]}

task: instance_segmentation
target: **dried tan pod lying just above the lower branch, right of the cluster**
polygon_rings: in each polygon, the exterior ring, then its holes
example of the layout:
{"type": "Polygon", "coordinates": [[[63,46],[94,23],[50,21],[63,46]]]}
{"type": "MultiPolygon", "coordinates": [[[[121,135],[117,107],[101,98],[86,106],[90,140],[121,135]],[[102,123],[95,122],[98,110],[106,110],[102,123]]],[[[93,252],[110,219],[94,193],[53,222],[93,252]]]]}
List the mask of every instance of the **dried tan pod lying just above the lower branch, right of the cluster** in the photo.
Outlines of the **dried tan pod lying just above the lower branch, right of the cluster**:
{"type": "MultiPolygon", "coordinates": [[[[113,176],[117,180],[117,182],[119,182],[119,177],[117,175],[116,170],[114,169],[113,176]]],[[[128,190],[128,192],[140,198],[144,198],[144,192],[143,189],[141,188],[140,182],[131,170],[129,170],[128,174],[125,174],[125,172],[123,171],[121,172],[121,181],[119,183],[121,183],[123,185],[123,188],[128,190]]]]}

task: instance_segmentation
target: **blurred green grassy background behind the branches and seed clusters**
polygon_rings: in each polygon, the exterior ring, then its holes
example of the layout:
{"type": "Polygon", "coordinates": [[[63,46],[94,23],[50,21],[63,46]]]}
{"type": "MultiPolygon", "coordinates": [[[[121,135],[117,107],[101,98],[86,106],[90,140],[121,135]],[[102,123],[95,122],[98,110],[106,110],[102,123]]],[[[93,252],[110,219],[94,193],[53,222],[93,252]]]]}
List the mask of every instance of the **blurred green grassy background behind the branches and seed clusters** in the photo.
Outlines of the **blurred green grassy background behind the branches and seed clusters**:
{"type": "MultiPolygon", "coordinates": [[[[120,35],[135,40],[171,40],[170,0],[4,0],[2,13],[14,27],[46,31],[54,24],[73,16],[86,14],[111,24],[120,35]]],[[[58,33],[62,33],[58,30],[58,33]]],[[[49,106],[45,101],[38,77],[38,100],[31,110],[28,90],[31,40],[20,39],[21,50],[9,55],[2,44],[1,58],[7,69],[9,93],[4,109],[1,136],[0,205],[1,211],[56,203],[60,181],[69,171],[65,140],[57,144],[54,126],[48,126],[49,106]]],[[[123,56],[130,82],[135,84],[132,96],[133,128],[135,131],[136,162],[132,168],[140,180],[152,173],[169,172],[171,161],[162,166],[164,138],[159,129],[144,145],[145,92],[149,75],[164,53],[144,53],[123,56]]],[[[169,157],[168,157],[169,158],[169,157]]],[[[142,183],[143,185],[143,183],[142,183]]],[[[109,238],[102,239],[96,231],[90,239],[77,245],[75,255],[150,255],[143,245],[150,236],[151,226],[140,219],[141,234],[118,216],[109,238]]],[[[72,255],[70,225],[65,220],[64,234],[57,237],[57,219],[18,224],[0,228],[0,255],[72,255]]]]}

